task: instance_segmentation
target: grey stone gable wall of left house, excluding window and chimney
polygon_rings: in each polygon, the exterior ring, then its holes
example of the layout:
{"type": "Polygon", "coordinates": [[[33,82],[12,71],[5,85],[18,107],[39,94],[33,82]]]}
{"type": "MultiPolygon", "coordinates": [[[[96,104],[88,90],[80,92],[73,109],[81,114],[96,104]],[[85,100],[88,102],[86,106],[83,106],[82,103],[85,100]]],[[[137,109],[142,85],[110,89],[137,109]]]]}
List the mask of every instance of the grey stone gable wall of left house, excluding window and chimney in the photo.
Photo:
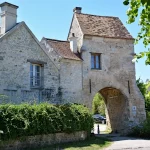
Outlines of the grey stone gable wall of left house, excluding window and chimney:
{"type": "Polygon", "coordinates": [[[58,69],[24,25],[0,41],[0,57],[0,94],[7,95],[9,102],[56,100],[58,69]],[[42,88],[30,87],[28,60],[45,62],[42,88]],[[45,90],[50,93],[48,96],[44,95],[45,90]]]}

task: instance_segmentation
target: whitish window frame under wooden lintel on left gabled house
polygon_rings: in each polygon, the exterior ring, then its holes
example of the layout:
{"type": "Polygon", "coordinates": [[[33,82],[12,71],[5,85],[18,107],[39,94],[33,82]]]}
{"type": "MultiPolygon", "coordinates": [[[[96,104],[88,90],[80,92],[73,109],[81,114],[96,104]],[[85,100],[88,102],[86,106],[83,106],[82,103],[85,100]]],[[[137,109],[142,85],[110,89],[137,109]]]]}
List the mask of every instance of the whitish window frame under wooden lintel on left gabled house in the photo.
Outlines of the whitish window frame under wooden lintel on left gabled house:
{"type": "Polygon", "coordinates": [[[30,63],[30,87],[31,88],[42,87],[42,65],[40,64],[30,63]],[[36,70],[36,66],[39,67],[39,71],[36,70]],[[39,74],[39,77],[37,76],[37,74],[39,74]],[[38,82],[39,84],[37,84],[38,82]]]}

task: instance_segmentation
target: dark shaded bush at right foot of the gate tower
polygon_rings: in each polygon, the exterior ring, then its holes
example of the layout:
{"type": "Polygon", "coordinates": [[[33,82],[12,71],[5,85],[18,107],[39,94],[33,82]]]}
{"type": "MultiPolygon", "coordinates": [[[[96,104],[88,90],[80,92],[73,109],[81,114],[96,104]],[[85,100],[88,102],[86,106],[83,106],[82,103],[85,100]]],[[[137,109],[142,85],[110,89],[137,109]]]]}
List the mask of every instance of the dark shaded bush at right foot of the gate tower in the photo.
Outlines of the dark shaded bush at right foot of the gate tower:
{"type": "Polygon", "coordinates": [[[129,136],[150,138],[150,120],[146,120],[139,126],[132,128],[129,136]]]}

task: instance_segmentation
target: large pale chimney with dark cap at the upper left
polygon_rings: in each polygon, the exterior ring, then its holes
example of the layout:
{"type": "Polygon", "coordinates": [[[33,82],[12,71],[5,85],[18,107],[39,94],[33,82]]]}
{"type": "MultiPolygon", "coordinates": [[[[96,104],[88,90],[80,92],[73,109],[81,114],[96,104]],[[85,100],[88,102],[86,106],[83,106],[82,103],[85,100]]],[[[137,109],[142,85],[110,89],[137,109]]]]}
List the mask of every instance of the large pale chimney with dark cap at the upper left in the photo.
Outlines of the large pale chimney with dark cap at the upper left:
{"type": "Polygon", "coordinates": [[[4,2],[1,7],[1,34],[5,34],[17,23],[18,6],[4,2]]]}

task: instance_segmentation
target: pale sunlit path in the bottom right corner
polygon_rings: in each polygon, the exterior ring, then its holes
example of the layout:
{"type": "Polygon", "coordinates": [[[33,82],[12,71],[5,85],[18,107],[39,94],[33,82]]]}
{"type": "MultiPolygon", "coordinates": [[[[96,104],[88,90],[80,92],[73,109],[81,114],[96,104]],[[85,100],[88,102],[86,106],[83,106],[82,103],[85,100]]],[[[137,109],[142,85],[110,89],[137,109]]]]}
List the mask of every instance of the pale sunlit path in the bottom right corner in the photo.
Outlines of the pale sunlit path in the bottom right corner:
{"type": "Polygon", "coordinates": [[[150,140],[112,137],[113,144],[104,150],[150,150],[150,140]]]}

